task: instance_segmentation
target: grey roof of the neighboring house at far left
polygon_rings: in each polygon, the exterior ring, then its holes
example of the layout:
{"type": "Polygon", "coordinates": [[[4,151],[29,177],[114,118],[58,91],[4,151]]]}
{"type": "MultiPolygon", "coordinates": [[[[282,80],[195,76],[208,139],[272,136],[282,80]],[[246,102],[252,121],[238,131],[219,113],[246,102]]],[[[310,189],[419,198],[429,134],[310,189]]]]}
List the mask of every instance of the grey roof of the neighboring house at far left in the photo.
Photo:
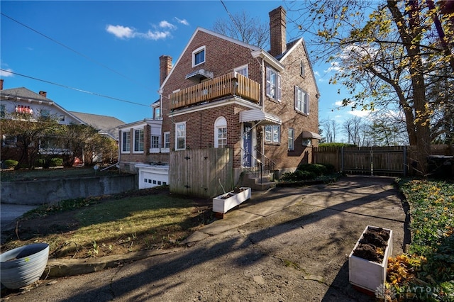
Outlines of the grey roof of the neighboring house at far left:
{"type": "Polygon", "coordinates": [[[4,100],[31,101],[31,102],[35,102],[38,104],[45,103],[46,105],[54,106],[55,108],[59,109],[60,111],[66,113],[68,116],[71,116],[71,118],[74,119],[74,121],[84,124],[84,121],[82,121],[77,116],[74,116],[72,113],[70,113],[70,111],[67,111],[62,106],[55,103],[55,101],[52,101],[51,99],[48,99],[46,96],[43,96],[41,94],[37,94],[37,93],[31,91],[30,89],[26,89],[25,87],[0,90],[0,96],[1,96],[1,99],[4,99],[4,100]]]}

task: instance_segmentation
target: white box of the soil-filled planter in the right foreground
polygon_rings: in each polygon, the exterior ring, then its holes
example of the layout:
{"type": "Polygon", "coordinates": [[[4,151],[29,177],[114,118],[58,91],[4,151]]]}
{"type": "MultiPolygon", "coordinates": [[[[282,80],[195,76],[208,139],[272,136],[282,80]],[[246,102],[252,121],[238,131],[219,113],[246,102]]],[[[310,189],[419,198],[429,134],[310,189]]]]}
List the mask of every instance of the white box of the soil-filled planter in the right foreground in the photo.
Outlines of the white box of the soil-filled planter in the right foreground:
{"type": "Polygon", "coordinates": [[[353,255],[353,251],[358,247],[360,240],[367,229],[377,228],[371,225],[367,225],[365,230],[362,232],[360,239],[356,242],[355,247],[348,256],[348,275],[350,284],[353,286],[358,286],[359,290],[363,290],[366,293],[373,294],[380,284],[384,285],[386,281],[387,267],[388,267],[388,257],[392,255],[392,230],[383,228],[384,230],[389,231],[388,245],[384,250],[384,257],[382,264],[377,262],[368,261],[360,257],[353,255]]]}

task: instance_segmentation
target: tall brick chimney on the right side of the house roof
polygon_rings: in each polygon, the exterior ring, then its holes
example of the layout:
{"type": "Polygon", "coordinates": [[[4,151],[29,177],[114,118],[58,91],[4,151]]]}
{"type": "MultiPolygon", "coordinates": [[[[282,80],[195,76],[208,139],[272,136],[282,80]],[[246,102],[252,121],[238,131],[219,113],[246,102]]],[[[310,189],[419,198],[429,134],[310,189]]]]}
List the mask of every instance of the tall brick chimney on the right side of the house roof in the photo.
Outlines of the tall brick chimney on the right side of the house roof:
{"type": "Polygon", "coordinates": [[[276,57],[287,50],[287,40],[285,37],[285,30],[287,29],[287,23],[285,16],[287,12],[282,6],[277,9],[273,9],[269,13],[270,15],[270,54],[276,57]]]}

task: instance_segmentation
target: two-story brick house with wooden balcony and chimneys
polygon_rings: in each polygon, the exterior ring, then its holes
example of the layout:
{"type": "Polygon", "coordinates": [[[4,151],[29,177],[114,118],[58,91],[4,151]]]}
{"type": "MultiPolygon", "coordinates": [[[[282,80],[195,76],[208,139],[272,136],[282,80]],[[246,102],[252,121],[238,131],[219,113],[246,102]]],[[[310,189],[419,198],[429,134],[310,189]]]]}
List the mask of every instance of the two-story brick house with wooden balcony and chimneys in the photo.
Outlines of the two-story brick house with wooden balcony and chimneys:
{"type": "Polygon", "coordinates": [[[270,12],[270,41],[265,51],[197,28],[175,65],[161,56],[160,101],[152,105],[159,123],[120,128],[121,167],[168,163],[174,150],[229,147],[236,182],[260,163],[282,174],[311,162],[320,94],[304,40],[286,41],[282,6],[270,12]]]}

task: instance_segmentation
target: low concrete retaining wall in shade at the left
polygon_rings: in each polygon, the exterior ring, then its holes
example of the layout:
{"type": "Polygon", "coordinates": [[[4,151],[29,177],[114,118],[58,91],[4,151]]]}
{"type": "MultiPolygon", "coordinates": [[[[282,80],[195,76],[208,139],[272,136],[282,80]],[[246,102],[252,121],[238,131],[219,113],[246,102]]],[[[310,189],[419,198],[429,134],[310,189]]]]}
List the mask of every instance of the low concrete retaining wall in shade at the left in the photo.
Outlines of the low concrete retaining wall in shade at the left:
{"type": "Polygon", "coordinates": [[[136,175],[2,181],[1,203],[22,205],[55,204],[72,198],[117,194],[137,189],[136,175]]]}

